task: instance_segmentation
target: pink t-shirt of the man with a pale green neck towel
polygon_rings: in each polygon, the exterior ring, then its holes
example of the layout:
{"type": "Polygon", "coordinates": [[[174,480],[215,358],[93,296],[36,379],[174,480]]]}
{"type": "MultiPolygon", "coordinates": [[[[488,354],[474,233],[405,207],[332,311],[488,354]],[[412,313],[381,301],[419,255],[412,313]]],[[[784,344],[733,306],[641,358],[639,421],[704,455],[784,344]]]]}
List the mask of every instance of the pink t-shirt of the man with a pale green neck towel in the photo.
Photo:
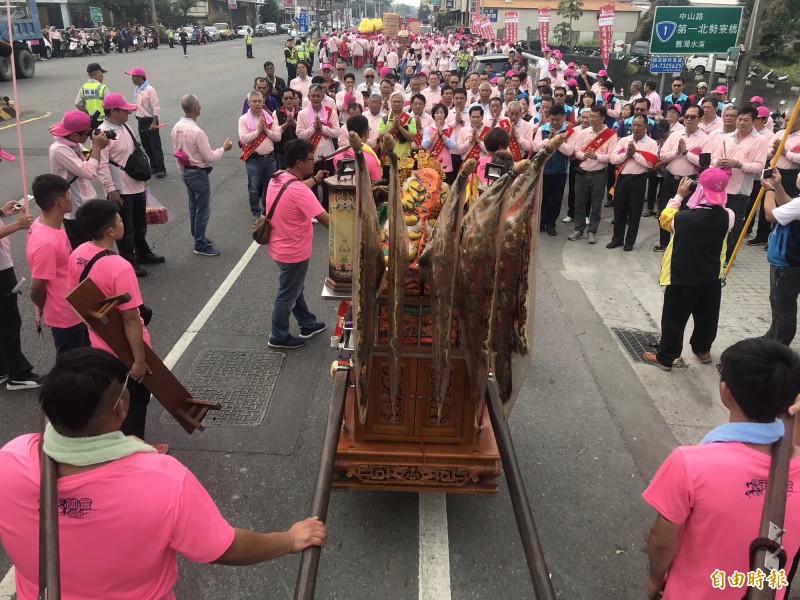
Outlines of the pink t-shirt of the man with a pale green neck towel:
{"type": "MultiPolygon", "coordinates": [[[[0,449],[0,540],[16,568],[17,600],[39,587],[39,434],[0,449]]],[[[233,543],[197,478],[176,459],[132,454],[58,480],[63,600],[171,600],[176,552],[217,560],[233,543]]]]}

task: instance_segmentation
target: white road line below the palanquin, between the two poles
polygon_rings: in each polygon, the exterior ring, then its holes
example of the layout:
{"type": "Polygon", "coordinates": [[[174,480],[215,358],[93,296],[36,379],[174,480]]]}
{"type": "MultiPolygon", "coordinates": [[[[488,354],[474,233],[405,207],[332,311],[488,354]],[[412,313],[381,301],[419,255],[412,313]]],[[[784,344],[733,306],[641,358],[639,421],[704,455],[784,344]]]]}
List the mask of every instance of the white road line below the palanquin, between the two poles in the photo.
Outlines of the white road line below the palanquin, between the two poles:
{"type": "Polygon", "coordinates": [[[419,495],[419,600],[450,600],[447,494],[419,495]]]}

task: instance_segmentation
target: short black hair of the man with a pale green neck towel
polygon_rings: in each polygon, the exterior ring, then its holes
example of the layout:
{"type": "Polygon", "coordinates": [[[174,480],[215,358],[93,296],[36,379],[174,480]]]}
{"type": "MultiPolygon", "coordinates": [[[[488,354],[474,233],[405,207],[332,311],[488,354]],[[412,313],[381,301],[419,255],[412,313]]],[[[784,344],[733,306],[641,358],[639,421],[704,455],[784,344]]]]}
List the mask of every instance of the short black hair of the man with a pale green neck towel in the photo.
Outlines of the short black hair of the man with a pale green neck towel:
{"type": "Polygon", "coordinates": [[[39,403],[58,433],[80,434],[111,384],[125,381],[127,372],[122,361],[104,350],[70,350],[56,359],[55,367],[44,378],[39,403]]]}

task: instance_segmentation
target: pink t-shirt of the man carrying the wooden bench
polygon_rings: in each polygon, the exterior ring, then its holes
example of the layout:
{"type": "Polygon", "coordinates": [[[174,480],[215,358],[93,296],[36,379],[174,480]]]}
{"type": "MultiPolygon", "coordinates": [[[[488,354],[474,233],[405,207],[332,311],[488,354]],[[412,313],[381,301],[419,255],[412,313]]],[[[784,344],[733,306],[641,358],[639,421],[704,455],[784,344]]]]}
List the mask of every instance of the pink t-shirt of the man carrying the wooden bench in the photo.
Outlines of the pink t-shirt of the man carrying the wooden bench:
{"type": "MultiPolygon", "coordinates": [[[[89,264],[95,254],[102,251],[102,248],[95,246],[92,242],[85,242],[75,248],[75,251],[69,257],[69,271],[67,272],[67,286],[69,289],[74,290],[78,287],[84,267],[89,264]]],[[[119,304],[117,310],[123,311],[130,308],[138,308],[142,304],[142,292],[139,289],[136,273],[133,272],[131,263],[118,254],[104,256],[99,259],[92,265],[92,270],[89,271],[88,277],[94,281],[95,285],[100,288],[100,291],[106,297],[118,296],[125,292],[131,295],[130,301],[119,304]]],[[[141,317],[139,317],[139,320],[141,321],[141,317]]],[[[141,323],[144,343],[150,346],[150,333],[147,331],[147,327],[144,326],[144,321],[141,321],[141,323]]],[[[93,348],[105,350],[116,356],[108,344],[92,331],[91,327],[89,328],[89,343],[93,348]]]]}

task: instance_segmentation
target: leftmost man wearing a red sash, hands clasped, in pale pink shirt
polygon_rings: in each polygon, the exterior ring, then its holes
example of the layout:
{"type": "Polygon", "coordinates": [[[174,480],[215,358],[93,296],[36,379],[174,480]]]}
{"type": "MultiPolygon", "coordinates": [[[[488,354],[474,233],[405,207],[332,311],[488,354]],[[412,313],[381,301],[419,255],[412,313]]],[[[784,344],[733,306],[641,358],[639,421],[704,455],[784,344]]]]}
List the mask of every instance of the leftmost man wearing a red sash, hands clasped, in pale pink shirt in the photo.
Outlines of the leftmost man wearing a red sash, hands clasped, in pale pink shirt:
{"type": "Polygon", "coordinates": [[[261,92],[252,91],[248,98],[250,110],[239,117],[241,159],[247,168],[247,195],[254,219],[261,215],[261,199],[267,183],[278,170],[275,142],[281,141],[278,120],[264,110],[261,92]]]}

